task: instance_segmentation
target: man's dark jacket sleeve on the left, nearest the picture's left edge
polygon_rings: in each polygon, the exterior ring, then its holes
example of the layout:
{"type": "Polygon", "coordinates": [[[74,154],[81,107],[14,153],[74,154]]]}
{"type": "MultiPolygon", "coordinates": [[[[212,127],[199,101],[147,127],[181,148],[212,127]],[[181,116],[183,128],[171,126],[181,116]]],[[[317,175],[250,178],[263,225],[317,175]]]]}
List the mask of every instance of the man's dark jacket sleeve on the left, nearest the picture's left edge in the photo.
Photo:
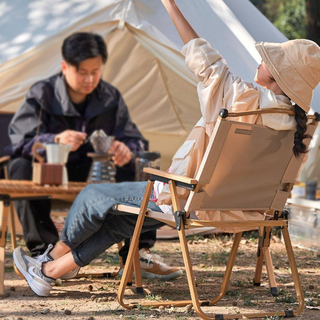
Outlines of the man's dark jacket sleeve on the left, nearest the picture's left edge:
{"type": "MultiPolygon", "coordinates": [[[[40,108],[40,104],[34,97],[30,97],[28,92],[27,98],[15,113],[9,125],[13,156],[31,158],[31,148],[35,141],[53,142],[55,134],[47,132],[48,118],[46,114],[41,112],[41,119],[39,119],[40,108]],[[39,135],[36,137],[38,125],[39,135]]],[[[45,156],[45,151],[41,150],[40,154],[45,156]]]]}

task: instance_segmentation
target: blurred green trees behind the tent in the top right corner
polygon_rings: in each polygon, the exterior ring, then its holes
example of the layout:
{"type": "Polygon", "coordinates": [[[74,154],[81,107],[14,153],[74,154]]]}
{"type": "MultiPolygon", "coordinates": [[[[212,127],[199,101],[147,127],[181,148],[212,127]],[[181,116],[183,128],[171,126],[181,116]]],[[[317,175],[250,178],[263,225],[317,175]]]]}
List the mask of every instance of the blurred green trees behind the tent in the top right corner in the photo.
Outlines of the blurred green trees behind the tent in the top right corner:
{"type": "Polygon", "coordinates": [[[320,0],[250,0],[289,39],[320,45],[320,0]]]}

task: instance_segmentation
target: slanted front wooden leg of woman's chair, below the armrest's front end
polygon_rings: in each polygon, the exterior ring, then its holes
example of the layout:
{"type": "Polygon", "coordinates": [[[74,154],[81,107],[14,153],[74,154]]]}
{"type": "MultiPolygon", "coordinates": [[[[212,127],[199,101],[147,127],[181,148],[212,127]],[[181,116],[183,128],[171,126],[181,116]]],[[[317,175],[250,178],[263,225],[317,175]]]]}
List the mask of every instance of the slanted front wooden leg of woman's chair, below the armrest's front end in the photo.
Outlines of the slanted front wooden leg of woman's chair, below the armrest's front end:
{"type": "Polygon", "coordinates": [[[125,309],[132,309],[133,308],[133,305],[128,305],[128,304],[124,303],[123,296],[124,296],[125,286],[128,282],[129,276],[130,276],[130,270],[133,265],[134,255],[139,247],[139,238],[140,238],[140,234],[141,234],[143,221],[146,216],[153,184],[154,184],[153,181],[148,180],[147,188],[144,193],[142,204],[140,207],[140,214],[138,216],[136,227],[133,232],[128,257],[127,257],[126,263],[124,265],[124,271],[123,271],[123,274],[121,277],[121,282],[120,282],[120,286],[119,286],[119,290],[118,290],[118,294],[117,294],[117,300],[118,300],[119,304],[125,309]]]}

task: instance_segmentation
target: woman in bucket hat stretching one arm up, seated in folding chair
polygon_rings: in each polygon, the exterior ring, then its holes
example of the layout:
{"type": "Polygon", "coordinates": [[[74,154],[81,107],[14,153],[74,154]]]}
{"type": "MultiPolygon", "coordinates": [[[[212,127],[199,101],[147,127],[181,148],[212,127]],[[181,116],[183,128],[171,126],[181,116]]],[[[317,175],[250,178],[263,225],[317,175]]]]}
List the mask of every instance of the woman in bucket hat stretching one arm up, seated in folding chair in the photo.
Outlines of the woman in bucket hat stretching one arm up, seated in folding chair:
{"type": "MultiPolygon", "coordinates": [[[[226,61],[196,34],[174,0],[162,2],[185,44],[182,53],[186,57],[187,67],[199,80],[198,95],[202,112],[202,118],[173,157],[169,172],[196,176],[220,108],[232,112],[259,108],[293,109],[295,117],[274,113],[243,116],[238,120],[263,124],[275,130],[296,128],[293,153],[296,157],[306,157],[307,150],[303,142],[308,137],[305,133],[306,113],[310,109],[313,89],[320,81],[320,47],[305,39],[282,44],[257,43],[262,61],[254,81],[261,87],[255,87],[230,72],[226,61]]],[[[146,186],[147,182],[124,182],[92,184],[84,188],[69,211],[61,241],[50,248],[50,252],[48,249],[43,256],[34,259],[21,248],[14,250],[14,263],[30,288],[39,296],[48,296],[55,279],[86,266],[113,244],[132,236],[137,215],[114,211],[112,205],[140,207],[146,186]]],[[[186,191],[179,191],[181,201],[187,196],[186,191]]],[[[173,214],[167,185],[155,182],[148,208],[173,214]]],[[[243,215],[245,219],[245,212],[243,215]]],[[[263,215],[256,212],[256,217],[252,217],[251,213],[250,218],[262,220],[263,215]]],[[[146,217],[142,232],[161,225],[162,222],[146,217]]]]}

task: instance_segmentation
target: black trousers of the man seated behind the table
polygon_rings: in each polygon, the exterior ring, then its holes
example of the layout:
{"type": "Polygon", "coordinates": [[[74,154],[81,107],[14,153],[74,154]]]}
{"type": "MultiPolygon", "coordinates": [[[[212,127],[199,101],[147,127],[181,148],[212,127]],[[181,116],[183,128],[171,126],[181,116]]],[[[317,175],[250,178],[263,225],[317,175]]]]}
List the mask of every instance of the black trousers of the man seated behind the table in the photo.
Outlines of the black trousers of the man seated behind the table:
{"type": "MultiPolygon", "coordinates": [[[[69,181],[86,181],[90,167],[70,168],[69,181]]],[[[32,180],[31,161],[16,158],[9,163],[9,177],[12,180],[32,180]]],[[[14,205],[22,225],[23,236],[32,257],[44,253],[49,244],[59,241],[58,231],[50,218],[51,200],[16,200],[14,205]]],[[[139,249],[151,248],[156,242],[156,229],[141,234],[139,249]]],[[[121,256],[126,259],[130,239],[125,239],[121,256]]]]}

